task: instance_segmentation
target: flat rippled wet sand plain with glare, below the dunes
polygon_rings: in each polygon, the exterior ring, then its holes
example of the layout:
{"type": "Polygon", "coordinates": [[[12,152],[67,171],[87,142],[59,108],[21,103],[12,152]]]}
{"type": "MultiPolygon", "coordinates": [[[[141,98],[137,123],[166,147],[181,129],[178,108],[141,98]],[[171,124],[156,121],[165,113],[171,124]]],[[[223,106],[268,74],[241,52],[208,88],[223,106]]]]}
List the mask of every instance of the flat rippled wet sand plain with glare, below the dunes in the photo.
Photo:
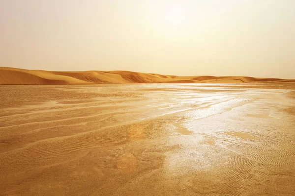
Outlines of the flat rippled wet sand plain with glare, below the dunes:
{"type": "Polygon", "coordinates": [[[0,195],[295,195],[294,84],[0,86],[0,195]]]}

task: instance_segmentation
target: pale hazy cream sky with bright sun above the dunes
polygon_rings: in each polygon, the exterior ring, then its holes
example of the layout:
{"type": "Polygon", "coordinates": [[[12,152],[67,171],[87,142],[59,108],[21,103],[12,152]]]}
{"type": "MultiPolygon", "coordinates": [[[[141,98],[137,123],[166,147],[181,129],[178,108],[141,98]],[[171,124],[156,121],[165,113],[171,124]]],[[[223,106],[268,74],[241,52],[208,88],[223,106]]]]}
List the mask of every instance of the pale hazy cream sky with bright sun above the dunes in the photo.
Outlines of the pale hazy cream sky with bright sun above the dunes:
{"type": "Polygon", "coordinates": [[[0,0],[0,66],[295,78],[295,0],[0,0]]]}

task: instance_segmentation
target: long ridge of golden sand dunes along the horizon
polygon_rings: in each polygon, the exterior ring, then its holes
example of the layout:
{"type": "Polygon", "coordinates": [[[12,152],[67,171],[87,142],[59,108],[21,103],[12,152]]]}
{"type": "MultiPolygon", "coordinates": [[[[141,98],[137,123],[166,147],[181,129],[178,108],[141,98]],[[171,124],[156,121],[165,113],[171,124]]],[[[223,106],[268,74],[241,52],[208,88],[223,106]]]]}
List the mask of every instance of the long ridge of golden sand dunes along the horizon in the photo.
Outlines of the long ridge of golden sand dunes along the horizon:
{"type": "Polygon", "coordinates": [[[0,84],[268,83],[294,81],[295,80],[245,76],[176,76],[128,71],[50,72],[0,67],[0,84]]]}

